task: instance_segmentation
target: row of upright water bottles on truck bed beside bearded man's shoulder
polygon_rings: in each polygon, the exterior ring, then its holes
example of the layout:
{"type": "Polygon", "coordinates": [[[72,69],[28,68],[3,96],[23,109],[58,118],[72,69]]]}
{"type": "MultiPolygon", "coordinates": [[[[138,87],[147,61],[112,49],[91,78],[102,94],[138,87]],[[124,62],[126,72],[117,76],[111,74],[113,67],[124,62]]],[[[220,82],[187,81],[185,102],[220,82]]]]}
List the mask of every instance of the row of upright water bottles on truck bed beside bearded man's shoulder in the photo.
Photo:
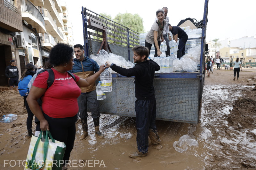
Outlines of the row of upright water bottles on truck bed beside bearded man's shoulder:
{"type": "Polygon", "coordinates": [[[172,68],[172,60],[173,57],[154,57],[153,59],[159,66],[160,70],[155,71],[156,73],[171,73],[173,71],[172,68]]]}

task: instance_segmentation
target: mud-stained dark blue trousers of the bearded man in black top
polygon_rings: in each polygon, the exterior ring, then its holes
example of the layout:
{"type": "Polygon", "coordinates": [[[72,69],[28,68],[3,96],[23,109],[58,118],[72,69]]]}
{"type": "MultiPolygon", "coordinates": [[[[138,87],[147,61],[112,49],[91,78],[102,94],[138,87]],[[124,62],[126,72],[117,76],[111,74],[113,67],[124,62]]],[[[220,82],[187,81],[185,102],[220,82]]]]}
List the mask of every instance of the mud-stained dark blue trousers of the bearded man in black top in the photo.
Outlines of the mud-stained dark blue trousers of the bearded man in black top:
{"type": "Polygon", "coordinates": [[[156,131],[156,99],[136,100],[136,129],[137,146],[141,153],[148,152],[148,136],[153,144],[159,144],[160,139],[156,131]]]}

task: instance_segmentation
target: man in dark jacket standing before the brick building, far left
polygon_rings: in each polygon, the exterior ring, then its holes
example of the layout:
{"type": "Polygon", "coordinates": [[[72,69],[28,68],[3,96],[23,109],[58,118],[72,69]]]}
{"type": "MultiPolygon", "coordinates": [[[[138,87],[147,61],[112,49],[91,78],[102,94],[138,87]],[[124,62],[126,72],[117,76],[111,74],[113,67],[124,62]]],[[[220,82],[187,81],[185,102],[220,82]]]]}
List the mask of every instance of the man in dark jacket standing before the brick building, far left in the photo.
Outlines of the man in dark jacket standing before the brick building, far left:
{"type": "MultiPolygon", "coordinates": [[[[5,76],[9,79],[9,83],[11,86],[11,90],[12,90],[12,86],[14,84],[14,86],[16,87],[16,90],[18,91],[18,84],[19,84],[19,70],[16,67],[16,61],[15,60],[11,60],[10,61],[11,65],[8,65],[5,69],[5,76]]],[[[14,87],[13,86],[13,87],[14,87]]],[[[19,91],[18,91],[19,92],[19,91]]]]}

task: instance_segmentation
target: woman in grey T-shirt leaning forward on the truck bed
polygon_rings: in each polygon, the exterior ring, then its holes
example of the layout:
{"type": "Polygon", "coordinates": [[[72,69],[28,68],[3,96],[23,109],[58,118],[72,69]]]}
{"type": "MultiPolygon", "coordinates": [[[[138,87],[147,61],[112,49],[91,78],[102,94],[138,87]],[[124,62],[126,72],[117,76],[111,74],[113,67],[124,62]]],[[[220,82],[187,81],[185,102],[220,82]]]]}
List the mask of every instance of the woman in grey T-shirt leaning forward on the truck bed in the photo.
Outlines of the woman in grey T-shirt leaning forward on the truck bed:
{"type": "Polygon", "coordinates": [[[160,51],[160,45],[161,45],[161,42],[164,41],[163,31],[164,31],[164,25],[166,24],[166,21],[164,19],[164,10],[163,9],[157,10],[156,17],[157,17],[157,20],[152,25],[145,40],[145,46],[149,50],[148,55],[150,54],[150,49],[152,47],[152,44],[154,44],[154,47],[155,47],[154,57],[160,56],[162,54],[162,52],[160,51]]]}

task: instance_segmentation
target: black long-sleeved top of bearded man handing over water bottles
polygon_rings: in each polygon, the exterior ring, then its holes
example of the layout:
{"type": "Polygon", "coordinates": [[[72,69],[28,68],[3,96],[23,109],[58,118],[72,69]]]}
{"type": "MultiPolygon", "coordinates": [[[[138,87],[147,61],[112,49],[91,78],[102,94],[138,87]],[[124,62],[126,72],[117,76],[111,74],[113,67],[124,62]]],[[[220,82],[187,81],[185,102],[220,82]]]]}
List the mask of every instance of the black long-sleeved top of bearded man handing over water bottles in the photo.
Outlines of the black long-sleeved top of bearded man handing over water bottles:
{"type": "Polygon", "coordinates": [[[153,80],[155,71],[160,70],[160,66],[153,60],[150,59],[137,63],[130,69],[125,69],[113,64],[112,70],[126,77],[135,76],[135,97],[137,99],[151,100],[155,98],[153,80]]]}

